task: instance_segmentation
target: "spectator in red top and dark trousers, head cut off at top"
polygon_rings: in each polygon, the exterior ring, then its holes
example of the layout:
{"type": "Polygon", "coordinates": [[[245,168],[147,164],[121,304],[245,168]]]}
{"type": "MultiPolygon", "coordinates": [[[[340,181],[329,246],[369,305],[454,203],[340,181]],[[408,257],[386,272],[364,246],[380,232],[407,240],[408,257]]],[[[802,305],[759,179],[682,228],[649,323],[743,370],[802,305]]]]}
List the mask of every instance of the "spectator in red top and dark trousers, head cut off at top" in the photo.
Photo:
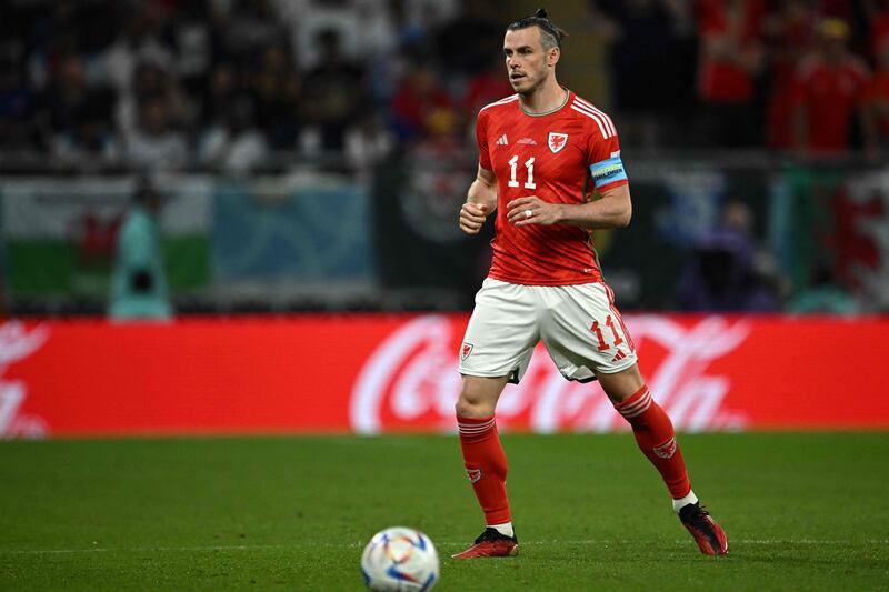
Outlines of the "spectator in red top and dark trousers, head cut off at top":
{"type": "Polygon", "coordinates": [[[703,102],[702,141],[725,148],[760,143],[756,77],[763,64],[762,0],[700,0],[698,91],[703,102]]]}

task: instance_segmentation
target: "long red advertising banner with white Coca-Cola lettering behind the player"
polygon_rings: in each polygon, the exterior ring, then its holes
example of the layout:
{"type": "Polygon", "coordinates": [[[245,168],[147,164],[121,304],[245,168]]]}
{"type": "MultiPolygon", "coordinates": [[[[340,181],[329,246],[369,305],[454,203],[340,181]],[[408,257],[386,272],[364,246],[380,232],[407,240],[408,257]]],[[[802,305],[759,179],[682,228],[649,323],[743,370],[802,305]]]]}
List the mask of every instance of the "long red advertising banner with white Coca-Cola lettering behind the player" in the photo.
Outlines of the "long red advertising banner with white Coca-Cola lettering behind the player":
{"type": "MultiPolygon", "coordinates": [[[[463,314],[0,325],[0,437],[452,431],[463,314]]],[[[889,429],[889,319],[628,315],[683,431],[889,429]]],[[[542,347],[501,429],[626,429],[542,347]]]]}

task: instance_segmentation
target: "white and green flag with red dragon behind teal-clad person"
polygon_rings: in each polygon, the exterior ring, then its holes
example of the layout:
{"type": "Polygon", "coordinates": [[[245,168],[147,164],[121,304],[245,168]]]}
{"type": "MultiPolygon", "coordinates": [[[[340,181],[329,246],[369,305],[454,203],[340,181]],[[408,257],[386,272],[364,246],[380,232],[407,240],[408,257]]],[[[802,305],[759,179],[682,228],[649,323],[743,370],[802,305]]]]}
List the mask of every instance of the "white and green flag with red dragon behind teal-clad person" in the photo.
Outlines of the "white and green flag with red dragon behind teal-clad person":
{"type": "MultiPolygon", "coordinates": [[[[0,181],[6,284],[16,297],[108,297],[118,230],[136,190],[132,177],[0,181]]],[[[173,292],[210,279],[212,183],[201,177],[156,182],[168,198],[161,247],[173,292]]]]}

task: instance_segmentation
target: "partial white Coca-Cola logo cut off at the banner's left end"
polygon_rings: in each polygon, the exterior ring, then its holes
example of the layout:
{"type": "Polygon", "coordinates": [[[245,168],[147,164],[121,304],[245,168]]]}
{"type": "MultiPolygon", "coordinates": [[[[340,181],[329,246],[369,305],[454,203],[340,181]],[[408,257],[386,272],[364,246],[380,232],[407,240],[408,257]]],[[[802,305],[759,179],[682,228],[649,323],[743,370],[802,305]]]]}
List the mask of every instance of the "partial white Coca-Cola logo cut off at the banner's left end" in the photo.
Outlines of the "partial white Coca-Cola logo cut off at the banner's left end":
{"type": "Polygon", "coordinates": [[[28,331],[17,321],[0,325],[0,438],[43,438],[49,433],[42,419],[21,411],[28,398],[27,385],[3,379],[11,364],[39,350],[47,339],[49,329],[44,327],[28,331]]]}

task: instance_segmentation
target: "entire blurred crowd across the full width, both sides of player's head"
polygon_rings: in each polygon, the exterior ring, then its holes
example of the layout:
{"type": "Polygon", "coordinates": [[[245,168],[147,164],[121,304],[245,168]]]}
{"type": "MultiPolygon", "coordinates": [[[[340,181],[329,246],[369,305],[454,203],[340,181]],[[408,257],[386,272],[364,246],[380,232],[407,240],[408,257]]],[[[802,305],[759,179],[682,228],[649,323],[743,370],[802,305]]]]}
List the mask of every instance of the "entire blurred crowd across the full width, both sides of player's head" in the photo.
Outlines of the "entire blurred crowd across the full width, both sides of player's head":
{"type": "MultiPolygon", "coordinates": [[[[625,143],[889,147],[887,0],[591,0],[625,143]]],[[[249,171],[471,148],[520,17],[461,0],[0,0],[0,154],[249,171]],[[344,157],[344,158],[343,158],[344,157]]],[[[570,38],[569,38],[570,47],[570,38]]],[[[570,50],[569,50],[570,53],[570,50]]],[[[575,60],[588,59],[573,56],[575,60]]]]}

